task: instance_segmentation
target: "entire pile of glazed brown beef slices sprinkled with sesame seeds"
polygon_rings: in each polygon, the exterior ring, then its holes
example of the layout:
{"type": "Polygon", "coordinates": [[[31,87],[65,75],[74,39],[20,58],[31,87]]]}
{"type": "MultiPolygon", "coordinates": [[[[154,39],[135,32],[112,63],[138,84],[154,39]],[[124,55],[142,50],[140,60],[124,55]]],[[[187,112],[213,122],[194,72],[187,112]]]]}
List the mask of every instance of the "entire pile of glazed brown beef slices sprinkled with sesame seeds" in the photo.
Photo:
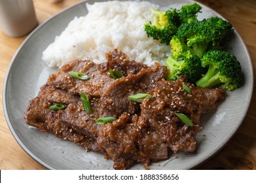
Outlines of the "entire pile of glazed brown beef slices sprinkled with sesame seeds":
{"type": "Polygon", "coordinates": [[[222,89],[198,88],[186,76],[170,82],[167,76],[165,66],[130,61],[119,50],[106,54],[101,64],[71,61],[49,76],[29,102],[24,118],[42,131],[113,159],[115,169],[129,169],[134,163],[149,169],[152,161],[168,159],[170,152],[194,152],[196,133],[202,129],[200,116],[225,99],[222,89]],[[109,69],[122,77],[114,79],[109,69]],[[73,78],[70,71],[90,78],[73,78]],[[184,84],[191,93],[184,90],[184,84]],[[88,95],[92,112],[84,110],[81,92],[88,95]],[[128,99],[137,93],[151,97],[141,103],[128,99]],[[50,110],[55,104],[64,108],[50,110]],[[185,114],[193,125],[182,122],[177,113],[185,114]],[[115,118],[113,122],[96,123],[98,118],[110,116],[115,118]]]}

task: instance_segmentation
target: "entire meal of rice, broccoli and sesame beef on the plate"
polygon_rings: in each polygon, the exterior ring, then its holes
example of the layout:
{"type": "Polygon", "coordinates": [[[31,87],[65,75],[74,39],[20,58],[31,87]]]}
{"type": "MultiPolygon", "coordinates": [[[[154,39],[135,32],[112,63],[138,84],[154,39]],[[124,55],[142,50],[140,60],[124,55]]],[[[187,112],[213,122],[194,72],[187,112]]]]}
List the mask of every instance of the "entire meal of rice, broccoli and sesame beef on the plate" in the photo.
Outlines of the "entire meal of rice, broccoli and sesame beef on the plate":
{"type": "Polygon", "coordinates": [[[196,3],[86,7],[43,52],[60,68],[29,102],[27,124],[103,154],[114,169],[194,152],[202,114],[242,84],[240,62],[224,50],[232,25],[198,20],[196,3]]]}

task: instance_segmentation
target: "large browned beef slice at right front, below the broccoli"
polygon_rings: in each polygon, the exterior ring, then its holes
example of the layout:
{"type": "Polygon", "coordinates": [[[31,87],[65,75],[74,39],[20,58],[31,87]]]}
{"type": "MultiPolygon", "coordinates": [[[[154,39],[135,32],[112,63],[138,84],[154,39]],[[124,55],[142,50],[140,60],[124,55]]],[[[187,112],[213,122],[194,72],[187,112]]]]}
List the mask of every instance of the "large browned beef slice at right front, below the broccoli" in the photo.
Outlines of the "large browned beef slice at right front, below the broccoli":
{"type": "Polygon", "coordinates": [[[200,116],[222,101],[221,89],[192,86],[183,77],[175,82],[160,80],[150,92],[153,97],[141,103],[139,118],[124,118],[101,128],[98,143],[113,159],[115,169],[127,169],[134,162],[149,166],[151,161],[168,158],[168,150],[194,152],[196,133],[202,129],[200,116]],[[191,94],[182,84],[189,86],[191,94]],[[193,126],[184,124],[175,112],[188,116],[193,126]]]}

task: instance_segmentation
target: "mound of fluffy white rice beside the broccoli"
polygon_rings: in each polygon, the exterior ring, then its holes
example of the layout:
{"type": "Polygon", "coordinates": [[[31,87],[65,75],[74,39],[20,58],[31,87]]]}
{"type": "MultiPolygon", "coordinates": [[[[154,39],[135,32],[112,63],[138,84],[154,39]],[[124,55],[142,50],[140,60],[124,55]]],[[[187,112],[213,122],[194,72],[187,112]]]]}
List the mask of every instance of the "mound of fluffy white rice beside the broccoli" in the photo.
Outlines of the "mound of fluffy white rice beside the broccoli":
{"type": "Polygon", "coordinates": [[[118,48],[130,59],[152,65],[164,63],[170,46],[147,37],[143,25],[153,18],[146,1],[108,1],[86,4],[88,14],[72,20],[43,52],[49,67],[61,67],[73,59],[106,61],[105,53],[118,48]]]}

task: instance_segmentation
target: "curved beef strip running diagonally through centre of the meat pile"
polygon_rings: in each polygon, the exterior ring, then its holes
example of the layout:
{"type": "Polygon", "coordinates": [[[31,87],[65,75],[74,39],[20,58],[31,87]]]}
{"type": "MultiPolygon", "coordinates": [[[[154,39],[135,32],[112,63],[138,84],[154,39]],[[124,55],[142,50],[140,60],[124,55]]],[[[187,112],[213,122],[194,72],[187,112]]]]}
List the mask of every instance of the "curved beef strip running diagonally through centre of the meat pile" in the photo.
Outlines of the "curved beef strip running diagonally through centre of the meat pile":
{"type": "Polygon", "coordinates": [[[118,118],[122,112],[136,114],[140,109],[137,103],[130,101],[130,95],[148,93],[155,87],[155,83],[166,78],[168,70],[158,64],[141,69],[136,75],[119,78],[117,82],[101,95],[99,108],[101,116],[115,116],[118,118]]]}

